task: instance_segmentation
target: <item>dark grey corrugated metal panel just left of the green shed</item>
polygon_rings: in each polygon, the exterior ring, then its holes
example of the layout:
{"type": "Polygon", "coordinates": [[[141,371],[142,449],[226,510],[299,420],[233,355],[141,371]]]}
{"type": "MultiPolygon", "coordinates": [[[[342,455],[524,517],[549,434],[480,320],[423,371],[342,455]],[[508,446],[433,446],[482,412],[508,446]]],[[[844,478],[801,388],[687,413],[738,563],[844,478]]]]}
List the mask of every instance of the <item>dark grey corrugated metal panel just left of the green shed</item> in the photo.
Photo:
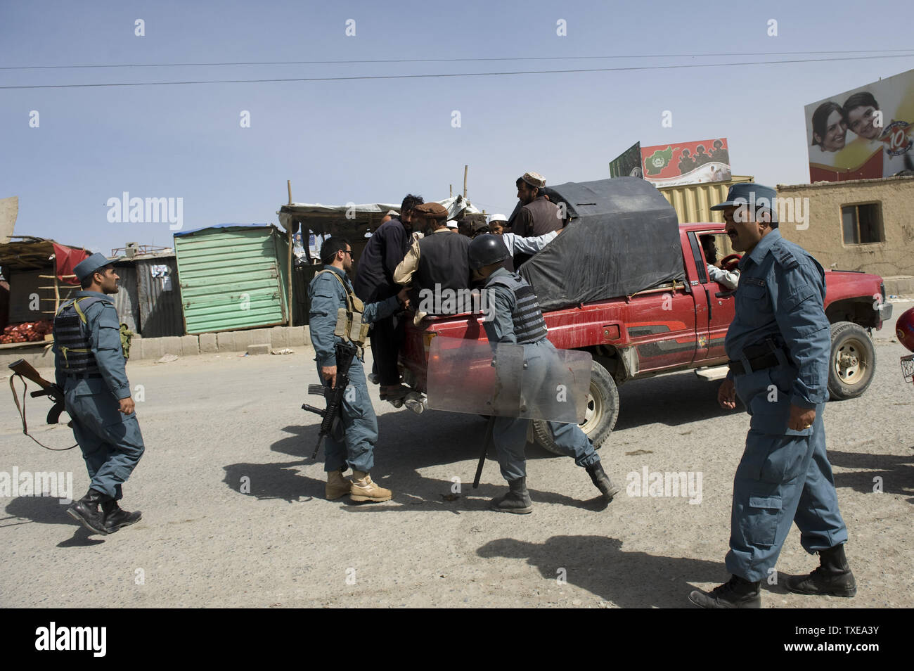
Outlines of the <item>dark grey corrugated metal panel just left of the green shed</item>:
{"type": "Polygon", "coordinates": [[[144,338],[184,335],[181,287],[175,257],[134,261],[140,307],[140,328],[144,338]]]}

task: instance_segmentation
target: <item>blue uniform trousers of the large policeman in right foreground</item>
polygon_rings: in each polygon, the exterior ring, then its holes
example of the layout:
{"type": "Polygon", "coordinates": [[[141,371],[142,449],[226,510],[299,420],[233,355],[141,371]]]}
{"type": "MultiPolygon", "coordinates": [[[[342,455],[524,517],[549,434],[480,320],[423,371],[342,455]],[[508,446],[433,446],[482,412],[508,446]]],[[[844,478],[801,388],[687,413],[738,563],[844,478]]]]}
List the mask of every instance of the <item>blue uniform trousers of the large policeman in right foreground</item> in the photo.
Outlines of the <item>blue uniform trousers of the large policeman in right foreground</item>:
{"type": "Polygon", "coordinates": [[[745,580],[768,579],[796,522],[809,553],[847,542],[831,464],[825,454],[824,403],[813,427],[797,435],[750,429],[733,480],[727,570],[745,580]]]}

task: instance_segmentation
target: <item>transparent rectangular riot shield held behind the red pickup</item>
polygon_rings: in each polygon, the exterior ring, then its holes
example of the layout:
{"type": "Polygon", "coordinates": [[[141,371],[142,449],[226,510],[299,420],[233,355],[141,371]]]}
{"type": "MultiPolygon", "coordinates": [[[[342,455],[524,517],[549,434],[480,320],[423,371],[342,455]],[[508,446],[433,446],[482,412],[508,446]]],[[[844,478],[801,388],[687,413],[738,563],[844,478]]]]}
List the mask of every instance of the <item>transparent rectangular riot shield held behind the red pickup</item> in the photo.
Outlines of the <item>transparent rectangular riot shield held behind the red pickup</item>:
{"type": "Polygon", "coordinates": [[[429,407],[469,414],[584,421],[590,354],[437,336],[429,352],[429,407]]]}

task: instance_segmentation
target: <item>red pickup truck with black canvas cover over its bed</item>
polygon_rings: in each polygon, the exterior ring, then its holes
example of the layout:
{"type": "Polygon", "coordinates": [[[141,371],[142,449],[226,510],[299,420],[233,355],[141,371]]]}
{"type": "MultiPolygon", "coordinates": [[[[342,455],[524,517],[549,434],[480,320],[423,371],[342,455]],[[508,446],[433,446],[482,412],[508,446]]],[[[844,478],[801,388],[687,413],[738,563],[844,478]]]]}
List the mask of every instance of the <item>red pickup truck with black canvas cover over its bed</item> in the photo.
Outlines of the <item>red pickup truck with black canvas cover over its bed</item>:
{"type": "MultiPolygon", "coordinates": [[[[723,224],[679,224],[660,192],[637,177],[569,182],[546,192],[567,213],[565,230],[519,272],[537,293],[552,344],[593,357],[580,426],[599,448],[619,417],[624,382],[727,363],[735,292],[708,277],[700,237],[714,236],[720,250],[728,240],[723,224]]],[[[829,394],[852,399],[876,370],[869,333],[891,316],[882,278],[826,271],[824,307],[832,325],[829,394]]],[[[409,321],[399,357],[404,381],[424,393],[432,339],[486,340],[483,318],[409,321]]],[[[538,444],[557,452],[545,421],[534,420],[533,431],[538,444]]]]}

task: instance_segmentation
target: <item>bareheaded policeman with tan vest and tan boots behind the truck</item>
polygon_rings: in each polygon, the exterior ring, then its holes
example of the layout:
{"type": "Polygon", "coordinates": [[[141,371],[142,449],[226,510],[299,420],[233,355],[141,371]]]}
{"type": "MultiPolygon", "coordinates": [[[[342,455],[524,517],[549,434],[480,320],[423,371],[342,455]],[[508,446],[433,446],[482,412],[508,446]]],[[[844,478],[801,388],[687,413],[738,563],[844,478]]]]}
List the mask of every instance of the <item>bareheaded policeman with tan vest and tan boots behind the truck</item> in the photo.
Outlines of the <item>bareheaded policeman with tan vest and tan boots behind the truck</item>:
{"type": "MultiPolygon", "coordinates": [[[[346,276],[347,272],[352,271],[352,247],[343,238],[324,240],[321,261],[324,261],[324,270],[314,275],[308,285],[308,296],[311,299],[309,326],[311,342],[317,355],[315,360],[318,375],[324,385],[334,387],[335,344],[344,342],[339,335],[334,334],[339,333],[338,329],[349,327],[340,323],[340,308],[344,308],[344,313],[361,314],[361,323],[370,324],[394,314],[401,305],[409,304],[409,300],[404,289],[383,301],[363,304],[356,297],[352,282],[346,276]]],[[[390,490],[374,483],[369,473],[375,463],[377,418],[368,396],[365,369],[359,357],[354,357],[349,367],[349,386],[343,395],[339,424],[343,436],[335,436],[331,431],[324,443],[326,497],[333,500],[348,494],[353,501],[388,501],[392,496],[390,490]],[[352,482],[343,476],[347,468],[353,471],[352,482]]]]}

